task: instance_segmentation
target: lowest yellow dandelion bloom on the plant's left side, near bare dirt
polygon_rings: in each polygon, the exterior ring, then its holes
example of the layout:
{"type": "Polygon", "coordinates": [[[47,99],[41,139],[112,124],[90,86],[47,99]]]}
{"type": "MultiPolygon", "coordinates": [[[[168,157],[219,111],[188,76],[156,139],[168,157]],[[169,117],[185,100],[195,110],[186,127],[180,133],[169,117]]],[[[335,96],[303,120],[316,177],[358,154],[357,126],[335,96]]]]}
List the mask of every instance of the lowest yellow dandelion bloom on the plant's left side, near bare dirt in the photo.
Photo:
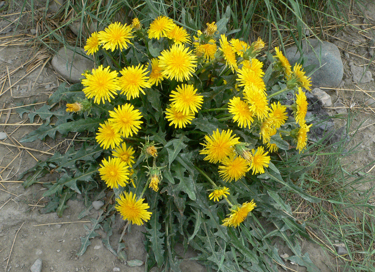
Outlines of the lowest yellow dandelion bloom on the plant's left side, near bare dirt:
{"type": "Polygon", "coordinates": [[[121,193],[119,197],[116,198],[117,205],[115,205],[115,209],[124,220],[127,219],[129,223],[137,224],[138,226],[143,225],[143,221],[150,220],[152,213],[147,211],[150,206],[147,203],[143,203],[144,198],[136,200],[132,192],[121,193]]]}

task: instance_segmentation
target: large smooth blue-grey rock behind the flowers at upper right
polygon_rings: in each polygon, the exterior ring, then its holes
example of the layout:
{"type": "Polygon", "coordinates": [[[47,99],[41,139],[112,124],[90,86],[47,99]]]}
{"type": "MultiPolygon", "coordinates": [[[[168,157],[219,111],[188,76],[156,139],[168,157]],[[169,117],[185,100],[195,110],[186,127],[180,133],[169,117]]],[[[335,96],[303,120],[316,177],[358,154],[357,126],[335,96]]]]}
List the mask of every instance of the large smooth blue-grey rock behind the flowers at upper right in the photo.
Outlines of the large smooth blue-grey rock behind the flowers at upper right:
{"type": "MultiPolygon", "coordinates": [[[[312,74],[311,81],[313,86],[338,86],[344,75],[344,67],[342,65],[341,55],[338,47],[330,42],[320,42],[317,39],[303,40],[302,59],[303,65],[315,65],[315,69],[319,68],[312,74]],[[314,50],[312,50],[312,48],[314,50]],[[321,67],[323,65],[323,67],[321,67]]],[[[285,51],[286,57],[290,64],[293,65],[301,57],[297,46],[292,46],[285,51]]]]}

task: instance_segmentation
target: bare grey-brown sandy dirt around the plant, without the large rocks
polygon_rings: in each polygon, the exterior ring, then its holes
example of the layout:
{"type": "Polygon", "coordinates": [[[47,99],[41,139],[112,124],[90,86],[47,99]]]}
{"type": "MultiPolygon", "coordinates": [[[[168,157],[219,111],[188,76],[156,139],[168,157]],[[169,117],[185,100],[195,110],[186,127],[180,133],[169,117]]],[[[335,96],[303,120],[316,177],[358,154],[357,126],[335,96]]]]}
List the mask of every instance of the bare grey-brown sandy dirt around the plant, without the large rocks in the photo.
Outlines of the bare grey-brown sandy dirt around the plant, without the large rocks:
{"type": "MultiPolygon", "coordinates": [[[[3,14],[5,13],[3,12],[3,14]]],[[[16,20],[17,15],[8,16],[7,19],[16,20]]],[[[357,22],[352,23],[363,24],[363,21],[359,18],[357,22]]],[[[0,24],[0,29],[7,25],[2,24],[0,24]]],[[[90,227],[90,223],[66,222],[89,221],[89,218],[98,217],[98,211],[92,209],[90,216],[78,219],[78,214],[85,207],[81,199],[71,199],[68,201],[69,208],[64,211],[62,218],[59,218],[56,213],[41,214],[40,209],[48,201],[42,197],[43,191],[46,189],[39,184],[24,189],[20,182],[15,182],[19,181],[18,174],[34,166],[38,160],[50,156],[45,152],[53,153],[55,150],[60,152],[66,150],[70,143],[69,139],[72,139],[74,135],[68,135],[68,140],[57,137],[55,140],[47,139],[44,142],[37,140],[32,143],[19,143],[24,135],[36,128],[36,125],[27,125],[30,124],[27,114],[20,116],[15,107],[20,104],[35,104],[33,105],[35,109],[43,106],[48,96],[65,80],[60,78],[51,67],[51,55],[25,45],[25,42],[32,37],[29,29],[21,27],[14,32],[13,25],[10,25],[9,28],[9,32],[0,34],[0,132],[6,132],[8,135],[6,140],[0,141],[0,269],[5,271],[7,267],[6,271],[30,271],[31,265],[40,258],[43,261],[42,272],[116,271],[113,270],[114,268],[119,268],[120,271],[144,271],[144,265],[129,267],[117,260],[101,241],[101,238],[105,238],[105,233],[100,229],[98,230],[100,236],[91,240],[92,244],[87,248],[86,253],[81,257],[76,257],[81,246],[80,236],[85,235],[83,225],[86,224],[90,227]],[[19,36],[22,37],[21,40],[9,43],[16,37],[5,37],[12,34],[28,36],[19,36]],[[34,71],[29,73],[33,68],[35,68],[34,71]],[[9,88],[10,86],[12,88],[9,88]]],[[[366,36],[369,35],[371,36],[371,34],[366,34],[366,36]]],[[[365,100],[369,96],[375,97],[375,84],[374,81],[359,85],[353,83],[349,66],[350,61],[353,61],[355,65],[369,64],[368,60],[360,58],[363,56],[371,59],[368,39],[358,31],[347,28],[328,37],[327,40],[339,46],[342,53],[344,85],[339,89],[324,89],[324,91],[332,96],[333,103],[339,100],[344,104],[344,107],[352,107],[353,109],[350,111],[357,113],[351,131],[354,131],[356,126],[361,128],[352,143],[359,145],[358,152],[345,158],[348,167],[355,169],[360,165],[368,165],[375,159],[375,105],[371,107],[374,109],[370,109],[365,104],[365,100]],[[359,91],[350,91],[350,89],[359,91]],[[360,89],[372,92],[366,93],[360,89]],[[360,107],[360,109],[356,109],[356,107],[360,107]]],[[[372,47],[374,48],[374,45],[372,47]]],[[[374,64],[375,62],[372,62],[368,69],[373,76],[375,76],[374,64]]],[[[329,111],[332,114],[336,113],[334,109],[329,109],[329,111]]],[[[37,117],[31,122],[41,123],[37,117]]],[[[336,125],[341,127],[345,124],[343,120],[337,119],[336,125]]],[[[364,171],[368,171],[370,168],[371,165],[364,171]]],[[[375,169],[371,172],[374,174],[375,169]]],[[[371,188],[374,184],[370,183],[366,186],[371,188]]],[[[124,221],[117,216],[113,229],[114,234],[110,240],[114,248],[117,248],[117,241],[123,226],[124,221]]],[[[142,231],[142,227],[132,226],[131,232],[124,236],[128,260],[144,261],[146,258],[142,231]]],[[[290,252],[284,251],[282,244],[279,248],[279,254],[288,253],[291,255],[290,252]]],[[[309,253],[311,260],[321,271],[336,271],[333,256],[322,250],[319,245],[302,241],[302,250],[303,253],[309,253]]],[[[192,254],[194,253],[190,252],[186,258],[192,254]]],[[[294,271],[305,271],[305,268],[290,263],[288,263],[288,267],[294,271]]],[[[205,271],[203,266],[188,259],[181,264],[181,268],[186,272],[205,271]]],[[[280,268],[280,271],[284,270],[280,268]]]]}

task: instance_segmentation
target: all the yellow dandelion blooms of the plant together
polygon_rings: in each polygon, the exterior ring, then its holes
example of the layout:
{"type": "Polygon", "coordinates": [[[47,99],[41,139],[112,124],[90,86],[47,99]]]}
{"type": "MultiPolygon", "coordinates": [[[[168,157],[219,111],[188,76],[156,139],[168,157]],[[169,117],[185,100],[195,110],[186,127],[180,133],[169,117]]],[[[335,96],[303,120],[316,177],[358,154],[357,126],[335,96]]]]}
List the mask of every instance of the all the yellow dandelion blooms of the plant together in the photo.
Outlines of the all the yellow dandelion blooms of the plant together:
{"type": "MultiPolygon", "coordinates": [[[[164,47],[160,55],[155,58],[136,65],[128,65],[121,70],[111,71],[110,66],[99,65],[98,68],[83,74],[82,84],[87,99],[93,99],[98,105],[107,103],[105,106],[110,106],[108,104],[113,105],[113,101],[118,101],[118,98],[132,99],[137,103],[143,99],[139,98],[140,93],[146,95],[150,89],[158,86],[162,89],[162,83],[167,82],[167,85],[173,87],[169,94],[169,104],[165,109],[165,119],[169,122],[169,126],[183,129],[194,122],[196,114],[201,111],[203,105],[208,105],[208,107],[210,105],[210,101],[205,101],[207,104],[204,104],[204,97],[200,95],[200,92],[205,91],[202,86],[198,87],[196,81],[193,81],[193,76],[199,77],[199,73],[204,73],[205,68],[213,63],[222,68],[220,75],[235,74],[236,84],[234,88],[231,88],[233,95],[228,98],[227,107],[219,109],[227,109],[229,114],[223,114],[227,117],[222,119],[217,117],[217,119],[219,121],[233,119],[241,129],[249,129],[253,134],[259,134],[261,144],[268,151],[261,145],[248,149],[246,147],[248,144],[240,142],[240,138],[236,137],[232,129],[222,131],[216,129],[211,135],[205,135],[204,143],[201,143],[203,149],[199,151],[200,154],[205,156],[205,161],[219,163],[219,176],[223,181],[231,182],[244,178],[250,171],[252,175],[263,174],[269,167],[269,152],[278,150],[276,144],[272,143],[271,137],[277,133],[282,135],[281,127],[288,119],[287,107],[293,109],[296,124],[299,126],[298,131],[289,135],[296,138],[297,149],[300,152],[306,149],[307,132],[311,125],[307,125],[305,120],[308,103],[302,88],[309,90],[311,81],[305,76],[302,65],[296,64],[292,69],[288,59],[277,47],[273,66],[280,75],[286,78],[287,89],[276,94],[294,90],[297,92],[296,103],[287,106],[277,100],[271,100],[276,95],[275,91],[273,94],[267,94],[263,80],[265,75],[263,62],[256,58],[265,43],[260,38],[252,43],[246,43],[240,39],[228,41],[225,34],[219,34],[217,25],[212,22],[207,23],[204,32],[199,30],[196,36],[191,37],[186,29],[165,16],[154,19],[148,29],[143,28],[138,18],[134,18],[130,25],[115,22],[103,31],[92,33],[87,39],[84,49],[88,55],[94,55],[101,48],[111,52],[123,51],[133,44],[132,39],[135,37],[142,37],[144,40],[148,37],[150,40],[156,39],[159,42],[167,40],[168,47],[164,47]]],[[[146,55],[150,56],[150,54],[146,55]]],[[[133,64],[133,62],[130,63],[133,64]]],[[[208,84],[217,78],[209,74],[208,84]]],[[[224,78],[227,79],[225,76],[223,78],[219,76],[218,82],[224,82],[227,85],[224,78]]],[[[163,95],[168,96],[165,93],[163,95]]],[[[108,110],[108,120],[100,124],[96,140],[103,149],[112,149],[112,158],[102,160],[99,174],[108,187],[118,188],[133,182],[132,175],[135,170],[132,169],[132,165],[135,163],[135,151],[131,146],[127,147],[122,142],[124,138],[138,134],[143,123],[141,120],[143,116],[139,111],[141,108],[136,109],[130,103],[121,103],[121,105],[117,103],[112,109],[108,110]]],[[[74,103],[67,104],[66,110],[80,113],[85,109],[80,108],[79,103],[74,103]]],[[[203,109],[201,113],[210,110],[203,109]]],[[[152,168],[149,168],[147,184],[152,190],[158,191],[162,175],[155,165],[157,149],[153,144],[146,144],[142,152],[147,158],[153,157],[154,164],[152,168]]],[[[208,197],[213,201],[220,199],[228,201],[227,195],[230,195],[229,188],[215,185],[208,197]]],[[[143,224],[143,221],[150,219],[151,213],[147,211],[149,206],[143,203],[144,199],[141,197],[139,196],[137,200],[132,192],[125,192],[116,199],[118,203],[116,209],[124,219],[131,223],[143,224]]],[[[239,226],[254,207],[256,207],[254,201],[245,202],[242,205],[231,205],[231,213],[223,220],[223,225],[239,226]]]]}

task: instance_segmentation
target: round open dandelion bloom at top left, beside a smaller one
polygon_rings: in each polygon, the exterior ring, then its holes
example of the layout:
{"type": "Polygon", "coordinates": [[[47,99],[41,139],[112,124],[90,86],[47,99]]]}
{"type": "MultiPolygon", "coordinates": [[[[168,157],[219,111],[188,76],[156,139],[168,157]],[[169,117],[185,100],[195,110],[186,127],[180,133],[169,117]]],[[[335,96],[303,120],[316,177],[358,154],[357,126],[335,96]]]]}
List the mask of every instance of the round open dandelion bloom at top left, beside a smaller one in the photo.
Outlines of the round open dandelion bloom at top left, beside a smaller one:
{"type": "Polygon", "coordinates": [[[130,43],[130,39],[134,36],[132,35],[134,31],[132,31],[132,27],[130,25],[122,25],[119,22],[114,22],[113,24],[108,25],[104,31],[99,31],[98,39],[99,43],[103,45],[105,50],[111,49],[113,52],[115,49],[126,49],[129,46],[127,45],[130,43]]]}

